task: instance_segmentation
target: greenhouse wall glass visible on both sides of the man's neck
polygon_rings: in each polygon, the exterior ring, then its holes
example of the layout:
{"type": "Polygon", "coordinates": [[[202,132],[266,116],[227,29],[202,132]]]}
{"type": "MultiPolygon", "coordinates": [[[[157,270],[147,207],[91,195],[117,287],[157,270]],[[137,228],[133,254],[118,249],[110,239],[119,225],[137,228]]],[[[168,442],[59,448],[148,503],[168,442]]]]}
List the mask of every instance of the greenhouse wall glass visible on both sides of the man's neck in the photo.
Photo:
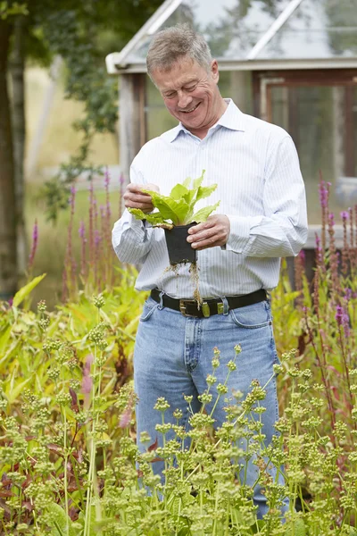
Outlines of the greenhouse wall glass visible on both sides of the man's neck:
{"type": "MultiPolygon", "coordinates": [[[[221,71],[220,94],[233,98],[236,105],[245,113],[252,113],[252,73],[249,71],[221,71]]],[[[147,140],[160,136],[170,130],[178,121],[170,115],[163,104],[160,92],[153,82],[146,77],[146,136],[147,140]]]]}

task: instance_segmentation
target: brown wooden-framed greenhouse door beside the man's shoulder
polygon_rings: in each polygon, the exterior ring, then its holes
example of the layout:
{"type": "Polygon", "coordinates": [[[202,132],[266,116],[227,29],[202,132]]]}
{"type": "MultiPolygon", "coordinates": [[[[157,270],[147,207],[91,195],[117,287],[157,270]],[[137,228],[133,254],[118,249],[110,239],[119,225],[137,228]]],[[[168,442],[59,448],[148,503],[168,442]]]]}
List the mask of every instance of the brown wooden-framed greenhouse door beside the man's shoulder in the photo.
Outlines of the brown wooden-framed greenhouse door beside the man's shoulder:
{"type": "Polygon", "coordinates": [[[357,204],[357,70],[254,75],[255,113],[289,132],[297,147],[309,224],[320,223],[319,179],[331,183],[331,210],[357,204]]]}

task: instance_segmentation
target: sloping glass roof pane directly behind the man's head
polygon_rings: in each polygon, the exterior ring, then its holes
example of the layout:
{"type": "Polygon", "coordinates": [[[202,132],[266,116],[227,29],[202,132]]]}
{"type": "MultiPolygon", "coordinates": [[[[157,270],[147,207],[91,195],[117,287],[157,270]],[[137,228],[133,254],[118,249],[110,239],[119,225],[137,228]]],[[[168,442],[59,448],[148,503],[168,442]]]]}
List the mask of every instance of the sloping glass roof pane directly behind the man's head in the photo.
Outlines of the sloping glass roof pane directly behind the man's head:
{"type": "MultiPolygon", "coordinates": [[[[182,0],[160,29],[189,22],[203,33],[214,57],[245,59],[287,4],[289,0],[182,0]]],[[[129,54],[129,63],[145,60],[150,40],[142,39],[129,54]]]]}

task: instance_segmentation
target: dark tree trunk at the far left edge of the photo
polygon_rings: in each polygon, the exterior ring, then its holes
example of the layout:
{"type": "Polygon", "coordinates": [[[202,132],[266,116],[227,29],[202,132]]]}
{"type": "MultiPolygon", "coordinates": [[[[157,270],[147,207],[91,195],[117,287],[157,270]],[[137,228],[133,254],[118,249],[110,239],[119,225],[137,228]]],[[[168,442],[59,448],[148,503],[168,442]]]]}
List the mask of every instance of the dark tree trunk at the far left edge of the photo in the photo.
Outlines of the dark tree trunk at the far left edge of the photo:
{"type": "Polygon", "coordinates": [[[16,205],[12,161],[12,128],[7,91],[7,54],[11,27],[0,19],[0,298],[16,291],[16,205]]]}

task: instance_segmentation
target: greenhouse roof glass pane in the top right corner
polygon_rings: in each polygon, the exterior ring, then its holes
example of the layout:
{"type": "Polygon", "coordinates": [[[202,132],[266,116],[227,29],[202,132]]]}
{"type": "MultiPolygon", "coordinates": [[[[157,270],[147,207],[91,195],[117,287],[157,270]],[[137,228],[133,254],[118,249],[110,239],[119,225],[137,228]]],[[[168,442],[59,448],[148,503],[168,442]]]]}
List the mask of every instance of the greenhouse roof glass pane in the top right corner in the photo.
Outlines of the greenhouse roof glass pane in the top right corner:
{"type": "Polygon", "coordinates": [[[258,59],[357,56],[357,1],[303,0],[258,59]]]}

